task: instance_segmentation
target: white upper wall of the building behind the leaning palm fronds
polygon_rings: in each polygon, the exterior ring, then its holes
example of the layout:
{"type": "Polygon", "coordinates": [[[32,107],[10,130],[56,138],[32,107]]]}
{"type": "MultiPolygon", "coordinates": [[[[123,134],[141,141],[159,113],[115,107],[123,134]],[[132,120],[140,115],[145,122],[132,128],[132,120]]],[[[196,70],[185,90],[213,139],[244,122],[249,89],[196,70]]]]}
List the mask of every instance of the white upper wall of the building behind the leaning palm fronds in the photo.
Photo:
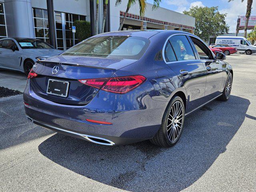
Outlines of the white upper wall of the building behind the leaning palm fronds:
{"type": "MultiPolygon", "coordinates": [[[[122,4],[119,6],[115,6],[116,1],[111,0],[110,1],[110,20],[111,20],[111,31],[118,30],[119,24],[120,24],[120,11],[125,12],[126,11],[126,5],[128,0],[123,0],[122,4]]],[[[166,8],[158,8],[158,10],[152,11],[152,4],[147,3],[147,10],[145,12],[145,17],[153,18],[156,20],[176,23],[176,24],[182,24],[186,26],[195,26],[195,18],[168,10],[166,8]]],[[[129,13],[140,15],[139,5],[138,2],[134,4],[130,10],[129,13]]]]}

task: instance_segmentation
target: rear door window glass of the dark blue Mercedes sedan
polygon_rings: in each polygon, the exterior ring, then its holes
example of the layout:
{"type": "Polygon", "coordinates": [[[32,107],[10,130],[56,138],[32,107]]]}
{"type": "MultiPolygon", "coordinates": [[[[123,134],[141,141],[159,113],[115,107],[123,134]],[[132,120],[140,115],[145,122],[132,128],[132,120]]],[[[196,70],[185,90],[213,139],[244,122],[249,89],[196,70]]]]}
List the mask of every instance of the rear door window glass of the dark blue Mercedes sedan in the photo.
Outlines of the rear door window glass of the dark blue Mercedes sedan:
{"type": "Polygon", "coordinates": [[[176,35],[169,39],[178,61],[196,59],[188,39],[184,35],[176,35]]]}

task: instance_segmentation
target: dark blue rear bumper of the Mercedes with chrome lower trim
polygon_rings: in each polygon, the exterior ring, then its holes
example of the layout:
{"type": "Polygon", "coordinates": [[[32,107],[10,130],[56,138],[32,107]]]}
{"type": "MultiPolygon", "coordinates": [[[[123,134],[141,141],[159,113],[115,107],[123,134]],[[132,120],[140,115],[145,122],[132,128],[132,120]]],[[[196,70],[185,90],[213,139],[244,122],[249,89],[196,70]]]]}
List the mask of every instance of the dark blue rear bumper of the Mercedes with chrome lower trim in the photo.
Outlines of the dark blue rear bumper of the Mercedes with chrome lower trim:
{"type": "MultiPolygon", "coordinates": [[[[41,98],[29,88],[23,94],[28,118],[42,127],[90,142],[108,140],[124,145],[152,138],[159,130],[165,102],[152,100],[143,88],[127,94],[99,91],[86,106],[57,104],[41,98]],[[99,124],[86,119],[111,122],[99,124]],[[97,138],[94,138],[97,137],[97,138]]],[[[110,142],[109,142],[110,141],[110,142]]],[[[113,144],[113,143],[114,144],[113,144]]]]}

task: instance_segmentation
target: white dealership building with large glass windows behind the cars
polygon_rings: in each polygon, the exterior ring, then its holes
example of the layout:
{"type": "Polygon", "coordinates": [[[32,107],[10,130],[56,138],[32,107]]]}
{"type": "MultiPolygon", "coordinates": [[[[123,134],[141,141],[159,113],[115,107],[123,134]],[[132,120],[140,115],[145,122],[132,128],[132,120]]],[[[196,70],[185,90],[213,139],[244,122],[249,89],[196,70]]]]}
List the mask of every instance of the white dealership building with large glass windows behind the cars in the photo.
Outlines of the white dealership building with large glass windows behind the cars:
{"type": "MultiPolygon", "coordinates": [[[[115,6],[116,0],[108,2],[105,32],[117,31],[128,0],[123,0],[118,6],[115,6]]],[[[72,34],[73,22],[87,20],[94,28],[95,12],[96,0],[0,0],[0,38],[37,38],[66,50],[78,43],[72,34]]],[[[103,0],[100,0],[99,31],[102,18],[103,0]]],[[[137,2],[130,8],[122,30],[163,29],[193,33],[194,27],[195,18],[162,7],[152,10],[152,4],[148,3],[141,17],[137,2]]]]}

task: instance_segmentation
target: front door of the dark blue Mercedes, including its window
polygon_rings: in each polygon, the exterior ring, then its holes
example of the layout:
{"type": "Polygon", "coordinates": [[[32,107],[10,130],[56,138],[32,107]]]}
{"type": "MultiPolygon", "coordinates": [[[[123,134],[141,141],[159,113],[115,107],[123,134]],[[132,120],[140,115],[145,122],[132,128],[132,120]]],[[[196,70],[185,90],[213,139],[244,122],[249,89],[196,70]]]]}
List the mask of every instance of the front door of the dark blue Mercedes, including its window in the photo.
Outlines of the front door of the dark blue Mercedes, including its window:
{"type": "Polygon", "coordinates": [[[196,50],[200,61],[204,64],[207,70],[206,86],[205,86],[205,99],[212,100],[222,93],[222,78],[224,72],[224,62],[215,60],[208,46],[200,39],[190,36],[194,49],[196,50]]]}

